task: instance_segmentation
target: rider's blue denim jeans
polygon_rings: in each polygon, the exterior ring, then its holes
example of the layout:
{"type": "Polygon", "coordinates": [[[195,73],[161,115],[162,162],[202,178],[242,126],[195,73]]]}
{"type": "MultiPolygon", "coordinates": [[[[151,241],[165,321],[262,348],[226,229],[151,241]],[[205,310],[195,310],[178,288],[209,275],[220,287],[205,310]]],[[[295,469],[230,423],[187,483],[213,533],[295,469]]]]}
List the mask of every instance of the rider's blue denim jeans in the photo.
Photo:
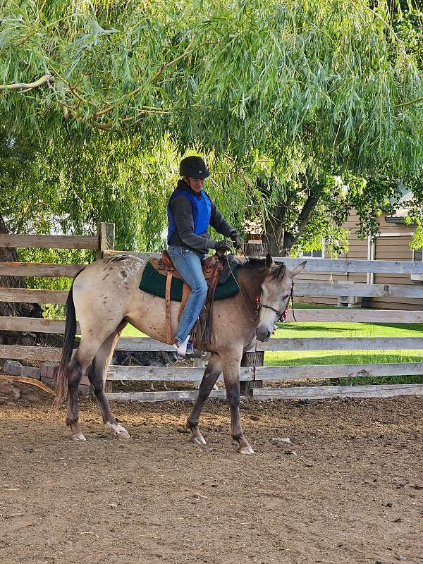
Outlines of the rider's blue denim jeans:
{"type": "Polygon", "coordinates": [[[168,254],[180,276],[191,287],[190,297],[183,308],[176,330],[177,338],[185,341],[195,326],[207,297],[207,282],[201,268],[201,260],[205,255],[200,257],[197,253],[176,245],[168,247],[168,254]]]}

